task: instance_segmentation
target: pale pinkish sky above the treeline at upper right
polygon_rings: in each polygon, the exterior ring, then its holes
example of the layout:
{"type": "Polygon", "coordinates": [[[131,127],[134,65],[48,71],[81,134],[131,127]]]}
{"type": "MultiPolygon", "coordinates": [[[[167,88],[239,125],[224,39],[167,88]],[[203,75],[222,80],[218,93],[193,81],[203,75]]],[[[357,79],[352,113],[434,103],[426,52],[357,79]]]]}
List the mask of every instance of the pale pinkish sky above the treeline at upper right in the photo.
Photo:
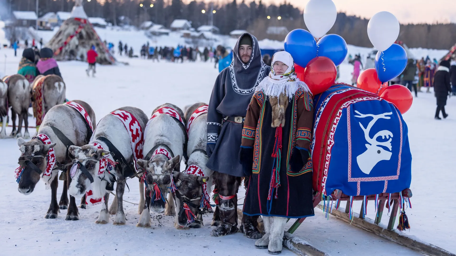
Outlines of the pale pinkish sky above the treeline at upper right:
{"type": "MultiPolygon", "coordinates": [[[[287,0],[304,9],[309,0],[287,0]]],[[[333,0],[338,11],[370,18],[379,11],[396,15],[400,23],[456,23],[456,0],[333,0]]],[[[279,4],[282,1],[264,0],[279,4]]]]}

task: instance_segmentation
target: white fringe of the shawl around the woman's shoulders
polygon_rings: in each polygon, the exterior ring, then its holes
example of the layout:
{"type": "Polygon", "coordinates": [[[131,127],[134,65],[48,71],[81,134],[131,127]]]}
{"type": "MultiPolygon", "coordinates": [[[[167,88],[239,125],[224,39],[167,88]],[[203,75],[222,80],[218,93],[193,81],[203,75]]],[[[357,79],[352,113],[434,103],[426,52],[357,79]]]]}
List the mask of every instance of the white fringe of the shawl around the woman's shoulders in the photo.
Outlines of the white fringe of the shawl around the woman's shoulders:
{"type": "Polygon", "coordinates": [[[295,92],[301,88],[305,92],[310,92],[311,90],[306,85],[305,82],[296,79],[294,82],[281,82],[275,83],[272,82],[269,77],[265,77],[263,81],[260,82],[255,92],[262,91],[267,97],[279,97],[280,94],[285,94],[288,99],[291,101],[295,92]]]}

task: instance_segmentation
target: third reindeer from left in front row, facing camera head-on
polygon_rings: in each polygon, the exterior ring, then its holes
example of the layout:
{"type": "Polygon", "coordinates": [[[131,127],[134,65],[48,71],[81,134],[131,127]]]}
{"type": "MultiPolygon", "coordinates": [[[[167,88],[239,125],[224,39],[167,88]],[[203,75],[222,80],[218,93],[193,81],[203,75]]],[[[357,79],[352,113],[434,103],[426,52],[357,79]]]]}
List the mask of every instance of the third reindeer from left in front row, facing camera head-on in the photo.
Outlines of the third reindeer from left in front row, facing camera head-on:
{"type": "MultiPolygon", "coordinates": [[[[150,207],[155,212],[165,210],[165,215],[174,214],[171,195],[168,196],[166,209],[165,197],[173,181],[173,171],[179,173],[186,144],[187,131],[182,110],[170,103],[155,108],[144,132],[144,159],[137,161],[145,170],[143,181],[147,184],[145,203],[140,202],[139,206],[142,209],[139,209],[141,217],[137,227],[150,227],[150,207]]],[[[175,226],[180,228],[176,223],[175,226]]]]}

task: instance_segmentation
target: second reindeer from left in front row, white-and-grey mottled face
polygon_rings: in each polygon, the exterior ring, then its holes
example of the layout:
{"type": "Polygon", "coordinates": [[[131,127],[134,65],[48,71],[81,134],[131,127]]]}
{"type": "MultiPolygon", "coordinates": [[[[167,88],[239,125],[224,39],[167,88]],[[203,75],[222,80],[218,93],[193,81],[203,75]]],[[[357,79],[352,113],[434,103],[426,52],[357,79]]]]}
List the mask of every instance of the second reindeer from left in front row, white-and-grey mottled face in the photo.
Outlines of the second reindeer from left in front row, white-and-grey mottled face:
{"type": "MultiPolygon", "coordinates": [[[[141,131],[144,131],[145,124],[147,123],[147,116],[139,108],[123,107],[115,111],[125,111],[133,115],[139,123],[141,131]]],[[[137,126],[138,124],[134,124],[137,126]]],[[[137,133],[136,133],[137,134],[137,133]]],[[[90,187],[92,187],[94,198],[104,197],[104,207],[100,211],[96,224],[107,224],[109,222],[109,212],[115,211],[114,225],[124,225],[126,223],[123,195],[125,189],[124,164],[117,163],[113,154],[114,148],[109,147],[106,139],[119,151],[127,163],[134,162],[135,152],[132,150],[130,134],[125,128],[125,125],[114,114],[108,114],[102,118],[93,132],[92,138],[87,145],[82,147],[71,146],[69,148],[70,154],[73,154],[75,160],[80,164],[77,165],[73,181],[70,184],[69,192],[74,197],[82,197],[90,187]],[[102,138],[103,137],[103,138],[102,138]],[[100,147],[101,146],[101,147],[100,147]],[[110,163],[114,163],[112,170],[104,171],[99,174],[100,164],[103,158],[109,159],[110,163]],[[86,172],[81,171],[84,169],[86,172]],[[88,176],[91,176],[93,183],[88,176]],[[112,184],[116,180],[116,196],[114,197],[116,203],[113,202],[111,210],[108,210],[109,191],[106,186],[112,184]]],[[[120,158],[120,156],[116,156],[120,158]]],[[[140,191],[143,190],[140,187],[140,191]]]]}

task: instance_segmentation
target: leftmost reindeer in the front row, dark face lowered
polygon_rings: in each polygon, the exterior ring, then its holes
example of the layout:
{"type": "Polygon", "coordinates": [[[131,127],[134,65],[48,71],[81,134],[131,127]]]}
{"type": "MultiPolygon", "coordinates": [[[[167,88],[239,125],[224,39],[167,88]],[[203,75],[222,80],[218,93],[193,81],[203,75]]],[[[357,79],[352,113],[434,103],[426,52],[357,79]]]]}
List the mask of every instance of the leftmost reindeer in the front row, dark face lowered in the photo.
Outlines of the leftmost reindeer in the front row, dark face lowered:
{"type": "MultiPolygon", "coordinates": [[[[78,103],[85,109],[93,123],[93,128],[95,128],[95,113],[93,113],[92,108],[86,102],[79,100],[75,100],[74,102],[78,103]]],[[[60,202],[57,204],[57,174],[59,173],[59,169],[57,169],[56,164],[51,175],[43,175],[45,173],[45,169],[47,168],[48,158],[46,156],[49,150],[53,148],[55,159],[58,163],[67,164],[68,161],[71,163],[71,160],[67,159],[67,145],[60,140],[52,127],[57,128],[71,142],[79,146],[88,143],[90,134],[92,133],[86,125],[86,121],[83,116],[77,110],[64,104],[51,108],[43,119],[43,123],[38,130],[39,134],[46,134],[52,144],[44,144],[36,137],[32,138],[31,141],[28,142],[25,142],[23,138],[17,139],[17,144],[21,150],[21,157],[19,158],[19,161],[29,160],[32,163],[32,165],[27,164],[25,169],[22,170],[18,190],[24,195],[30,195],[35,189],[35,185],[40,180],[41,176],[41,179],[43,179],[45,184],[50,185],[51,187],[51,205],[49,205],[49,210],[46,214],[47,219],[57,218],[57,215],[60,212],[59,208],[67,209],[67,189],[71,182],[68,168],[66,173],[67,179],[63,182],[62,196],[60,197],[60,202]],[[38,169],[34,169],[35,166],[38,169]],[[41,174],[38,170],[41,171],[41,174]]],[[[85,197],[81,200],[81,208],[85,208],[85,197]]],[[[70,196],[70,205],[67,211],[66,220],[79,220],[78,207],[76,206],[76,201],[73,196],[70,196]]]]}

